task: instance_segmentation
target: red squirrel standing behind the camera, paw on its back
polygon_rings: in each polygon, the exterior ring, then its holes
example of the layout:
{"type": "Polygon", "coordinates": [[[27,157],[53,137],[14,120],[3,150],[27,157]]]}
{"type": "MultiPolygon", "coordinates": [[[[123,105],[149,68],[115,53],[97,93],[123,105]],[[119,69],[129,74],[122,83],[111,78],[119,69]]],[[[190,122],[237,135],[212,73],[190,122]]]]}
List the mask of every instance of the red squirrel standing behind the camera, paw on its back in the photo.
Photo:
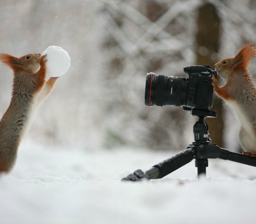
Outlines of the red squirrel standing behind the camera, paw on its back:
{"type": "Polygon", "coordinates": [[[225,79],[223,86],[212,78],[214,90],[234,109],[240,121],[239,141],[243,154],[256,156],[256,88],[248,70],[256,55],[256,46],[245,45],[234,58],[218,61],[215,69],[225,79]]]}

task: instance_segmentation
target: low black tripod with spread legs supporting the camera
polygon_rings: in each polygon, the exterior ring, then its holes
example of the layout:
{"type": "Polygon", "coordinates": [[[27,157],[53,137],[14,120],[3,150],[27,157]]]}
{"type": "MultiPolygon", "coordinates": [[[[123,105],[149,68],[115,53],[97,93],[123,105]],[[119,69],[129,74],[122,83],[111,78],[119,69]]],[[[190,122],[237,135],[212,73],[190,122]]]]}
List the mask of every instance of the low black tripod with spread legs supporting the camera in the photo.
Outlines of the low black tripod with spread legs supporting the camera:
{"type": "Polygon", "coordinates": [[[161,163],[145,172],[136,170],[122,180],[139,181],[142,179],[159,179],[188,164],[193,159],[195,159],[195,167],[197,167],[197,177],[206,176],[208,159],[219,158],[256,167],[256,157],[230,152],[224,148],[220,148],[216,144],[210,144],[212,140],[209,136],[208,125],[204,122],[204,119],[206,117],[216,117],[217,113],[215,111],[192,109],[192,115],[197,116],[199,120],[195,122],[193,127],[195,141],[186,150],[161,161],[161,163]]]}

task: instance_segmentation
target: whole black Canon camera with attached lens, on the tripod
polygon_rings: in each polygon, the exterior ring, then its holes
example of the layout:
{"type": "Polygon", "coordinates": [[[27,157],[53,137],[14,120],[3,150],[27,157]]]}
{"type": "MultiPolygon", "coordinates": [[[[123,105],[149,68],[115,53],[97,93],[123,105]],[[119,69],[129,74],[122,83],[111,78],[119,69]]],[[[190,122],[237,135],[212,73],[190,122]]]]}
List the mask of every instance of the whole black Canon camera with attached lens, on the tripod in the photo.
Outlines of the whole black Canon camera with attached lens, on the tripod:
{"type": "Polygon", "coordinates": [[[213,106],[212,77],[217,71],[210,66],[183,68],[189,78],[147,73],[146,106],[183,106],[184,110],[209,110],[213,106]]]}

